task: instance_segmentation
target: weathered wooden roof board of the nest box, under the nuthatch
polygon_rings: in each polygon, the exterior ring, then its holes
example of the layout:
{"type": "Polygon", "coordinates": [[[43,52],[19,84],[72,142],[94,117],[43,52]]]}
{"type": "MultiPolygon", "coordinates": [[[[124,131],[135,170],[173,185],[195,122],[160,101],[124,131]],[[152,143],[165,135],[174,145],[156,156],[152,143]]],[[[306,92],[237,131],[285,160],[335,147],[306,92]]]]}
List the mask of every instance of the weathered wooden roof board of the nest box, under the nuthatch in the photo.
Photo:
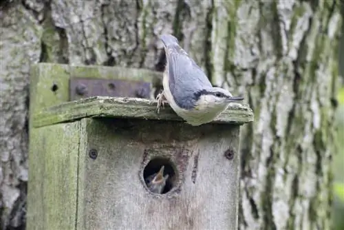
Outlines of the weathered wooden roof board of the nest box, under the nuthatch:
{"type": "MultiPolygon", "coordinates": [[[[34,114],[33,126],[42,127],[65,123],[87,117],[141,118],[164,121],[183,121],[169,105],[156,113],[157,101],[142,98],[120,98],[94,96],[78,101],[61,103],[34,114]]],[[[231,103],[212,123],[242,125],[253,121],[253,112],[248,105],[231,103]]]]}

